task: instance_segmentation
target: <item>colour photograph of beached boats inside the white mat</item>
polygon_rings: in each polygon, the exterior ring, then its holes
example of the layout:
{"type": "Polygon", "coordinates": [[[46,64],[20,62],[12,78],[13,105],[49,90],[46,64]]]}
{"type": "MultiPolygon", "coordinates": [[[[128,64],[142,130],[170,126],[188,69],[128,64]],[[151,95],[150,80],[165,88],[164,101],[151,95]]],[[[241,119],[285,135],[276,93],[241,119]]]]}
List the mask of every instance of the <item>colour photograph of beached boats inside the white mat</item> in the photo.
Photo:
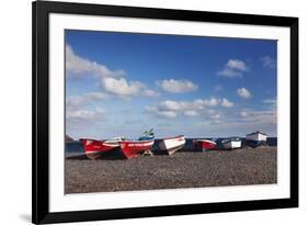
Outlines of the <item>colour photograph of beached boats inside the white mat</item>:
{"type": "Polygon", "coordinates": [[[277,40],[64,34],[65,194],[277,183],[277,40]]]}

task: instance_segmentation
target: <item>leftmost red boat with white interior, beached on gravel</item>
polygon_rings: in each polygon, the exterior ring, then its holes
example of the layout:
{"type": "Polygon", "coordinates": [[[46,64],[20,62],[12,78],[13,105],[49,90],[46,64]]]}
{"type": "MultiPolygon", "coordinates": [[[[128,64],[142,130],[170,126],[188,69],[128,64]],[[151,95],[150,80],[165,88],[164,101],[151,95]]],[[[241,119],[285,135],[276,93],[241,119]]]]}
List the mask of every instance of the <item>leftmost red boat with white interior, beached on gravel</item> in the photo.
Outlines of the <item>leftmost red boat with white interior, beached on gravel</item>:
{"type": "Polygon", "coordinates": [[[114,137],[106,140],[81,138],[79,139],[84,149],[84,154],[90,159],[96,159],[102,157],[105,153],[117,149],[119,147],[119,140],[124,140],[124,137],[114,137]]]}

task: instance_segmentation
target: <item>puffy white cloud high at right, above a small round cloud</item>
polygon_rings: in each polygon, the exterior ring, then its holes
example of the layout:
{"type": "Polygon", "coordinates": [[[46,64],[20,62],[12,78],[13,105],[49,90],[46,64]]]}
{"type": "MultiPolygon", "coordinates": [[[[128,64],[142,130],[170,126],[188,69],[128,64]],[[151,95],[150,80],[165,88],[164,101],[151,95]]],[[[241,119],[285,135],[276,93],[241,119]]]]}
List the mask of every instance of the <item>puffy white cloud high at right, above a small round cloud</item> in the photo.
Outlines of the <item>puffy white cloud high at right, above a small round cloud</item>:
{"type": "Polygon", "coordinates": [[[244,61],[239,59],[229,59],[225,67],[217,72],[217,75],[221,77],[236,78],[242,77],[242,74],[247,71],[249,71],[249,68],[244,61]]]}

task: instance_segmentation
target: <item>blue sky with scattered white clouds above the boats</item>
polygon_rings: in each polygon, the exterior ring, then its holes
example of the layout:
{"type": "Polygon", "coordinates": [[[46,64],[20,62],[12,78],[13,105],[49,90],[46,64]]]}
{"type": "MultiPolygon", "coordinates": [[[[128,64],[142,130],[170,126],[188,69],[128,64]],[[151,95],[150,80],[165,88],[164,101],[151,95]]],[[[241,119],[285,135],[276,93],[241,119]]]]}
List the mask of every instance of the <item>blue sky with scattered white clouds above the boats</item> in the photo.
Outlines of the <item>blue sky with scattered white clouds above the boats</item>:
{"type": "Polygon", "coordinates": [[[276,41],[66,31],[73,138],[276,136],[276,41]]]}

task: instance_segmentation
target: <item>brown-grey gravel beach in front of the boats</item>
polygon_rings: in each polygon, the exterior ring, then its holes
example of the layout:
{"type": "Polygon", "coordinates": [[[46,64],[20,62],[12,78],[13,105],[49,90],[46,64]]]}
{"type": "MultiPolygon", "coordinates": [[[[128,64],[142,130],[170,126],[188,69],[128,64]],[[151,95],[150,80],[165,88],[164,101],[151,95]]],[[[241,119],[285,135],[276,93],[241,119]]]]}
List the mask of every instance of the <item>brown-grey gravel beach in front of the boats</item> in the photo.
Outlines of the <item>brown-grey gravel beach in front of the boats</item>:
{"type": "Polygon", "coordinates": [[[276,147],[179,151],[125,159],[66,159],[66,193],[277,182],[276,147]]]}

